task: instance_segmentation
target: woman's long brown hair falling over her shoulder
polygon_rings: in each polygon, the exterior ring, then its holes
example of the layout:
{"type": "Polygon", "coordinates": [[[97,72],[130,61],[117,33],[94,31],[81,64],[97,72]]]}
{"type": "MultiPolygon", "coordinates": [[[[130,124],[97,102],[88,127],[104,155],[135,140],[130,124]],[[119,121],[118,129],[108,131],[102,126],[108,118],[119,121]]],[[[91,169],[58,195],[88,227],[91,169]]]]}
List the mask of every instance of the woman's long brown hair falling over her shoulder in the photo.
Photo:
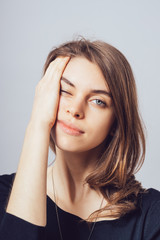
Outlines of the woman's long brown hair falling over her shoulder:
{"type": "MultiPolygon", "coordinates": [[[[86,183],[99,189],[108,204],[92,213],[87,220],[93,220],[97,213],[103,217],[119,218],[136,208],[138,194],[144,191],[134,176],[144,161],[145,136],[132,69],[119,50],[103,41],[81,38],[54,48],[46,60],[44,73],[58,56],[83,56],[94,62],[110,88],[116,120],[112,134],[105,139],[95,170],[86,178],[86,183]]],[[[55,152],[51,136],[50,147],[55,152]]]]}

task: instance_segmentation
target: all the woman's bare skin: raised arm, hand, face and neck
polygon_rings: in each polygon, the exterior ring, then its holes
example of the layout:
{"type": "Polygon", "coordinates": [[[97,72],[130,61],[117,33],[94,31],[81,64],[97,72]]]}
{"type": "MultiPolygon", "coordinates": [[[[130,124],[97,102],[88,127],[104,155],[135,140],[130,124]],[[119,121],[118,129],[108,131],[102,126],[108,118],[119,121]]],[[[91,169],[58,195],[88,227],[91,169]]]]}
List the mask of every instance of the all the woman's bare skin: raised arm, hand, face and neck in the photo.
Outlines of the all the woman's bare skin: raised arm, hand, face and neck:
{"type": "Polygon", "coordinates": [[[99,68],[84,58],[69,60],[69,57],[55,59],[36,86],[31,118],[6,206],[6,212],[38,226],[46,226],[46,194],[54,200],[52,171],[58,204],[64,210],[87,218],[99,208],[102,199],[98,191],[83,186],[83,181],[93,169],[102,141],[112,125],[113,108],[112,105],[97,107],[94,100],[100,96],[88,97],[91,86],[108,90],[99,68]],[[71,97],[59,95],[63,74],[76,86],[71,97]],[[84,134],[65,135],[58,128],[58,118],[73,121],[84,134]],[[54,167],[48,168],[51,132],[57,154],[54,167]]]}

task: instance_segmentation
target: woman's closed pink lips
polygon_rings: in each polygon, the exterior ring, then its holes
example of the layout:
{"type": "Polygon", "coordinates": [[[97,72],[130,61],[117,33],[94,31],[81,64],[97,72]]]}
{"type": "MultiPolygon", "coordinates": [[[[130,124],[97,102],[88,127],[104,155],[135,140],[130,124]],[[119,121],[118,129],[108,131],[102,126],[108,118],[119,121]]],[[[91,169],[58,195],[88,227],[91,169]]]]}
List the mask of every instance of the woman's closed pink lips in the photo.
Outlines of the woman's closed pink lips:
{"type": "Polygon", "coordinates": [[[67,134],[73,135],[73,136],[79,136],[84,133],[81,129],[77,128],[75,125],[71,123],[66,123],[64,121],[58,120],[57,121],[60,128],[67,134]]]}

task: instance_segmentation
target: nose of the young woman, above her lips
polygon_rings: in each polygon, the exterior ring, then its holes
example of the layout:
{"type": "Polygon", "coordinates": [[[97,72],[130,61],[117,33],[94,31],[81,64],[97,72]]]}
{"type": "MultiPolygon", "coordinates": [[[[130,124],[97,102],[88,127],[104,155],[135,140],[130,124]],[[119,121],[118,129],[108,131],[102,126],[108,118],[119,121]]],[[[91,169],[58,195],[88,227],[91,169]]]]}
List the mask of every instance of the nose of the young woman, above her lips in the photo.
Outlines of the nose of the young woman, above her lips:
{"type": "Polygon", "coordinates": [[[84,109],[82,102],[72,102],[67,106],[67,113],[73,117],[82,119],[84,118],[84,109]]]}

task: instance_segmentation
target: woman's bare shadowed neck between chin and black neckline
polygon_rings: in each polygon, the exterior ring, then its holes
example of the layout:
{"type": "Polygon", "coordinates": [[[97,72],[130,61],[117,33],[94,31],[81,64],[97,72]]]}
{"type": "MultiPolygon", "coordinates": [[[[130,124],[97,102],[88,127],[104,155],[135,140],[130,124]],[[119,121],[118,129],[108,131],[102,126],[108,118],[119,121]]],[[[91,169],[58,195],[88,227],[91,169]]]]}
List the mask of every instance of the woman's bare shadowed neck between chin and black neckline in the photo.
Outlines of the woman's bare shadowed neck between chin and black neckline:
{"type": "MultiPolygon", "coordinates": [[[[93,191],[85,178],[94,170],[97,151],[71,153],[56,148],[56,159],[53,166],[53,176],[58,196],[68,199],[72,204],[82,202],[93,191]]],[[[94,193],[95,194],[95,193],[94,193]]]]}

